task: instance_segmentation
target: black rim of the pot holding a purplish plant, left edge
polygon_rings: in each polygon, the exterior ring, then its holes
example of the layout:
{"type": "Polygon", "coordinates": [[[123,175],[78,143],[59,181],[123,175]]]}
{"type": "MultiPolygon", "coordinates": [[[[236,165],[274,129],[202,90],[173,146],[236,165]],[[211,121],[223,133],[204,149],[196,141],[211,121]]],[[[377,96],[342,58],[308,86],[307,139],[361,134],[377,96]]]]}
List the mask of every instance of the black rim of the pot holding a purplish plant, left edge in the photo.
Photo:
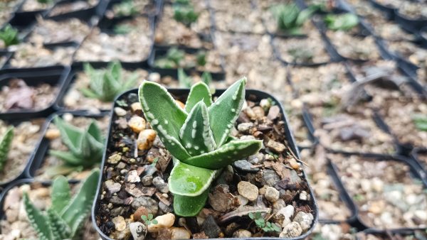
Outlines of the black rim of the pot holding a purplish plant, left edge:
{"type": "Polygon", "coordinates": [[[35,117],[46,117],[53,112],[53,104],[58,99],[60,89],[63,88],[70,67],[53,66],[21,69],[4,69],[0,70],[0,87],[9,84],[11,79],[22,79],[28,86],[37,86],[41,83],[49,84],[56,87],[55,97],[51,103],[43,109],[11,109],[1,112],[0,119],[27,119],[35,117]]]}

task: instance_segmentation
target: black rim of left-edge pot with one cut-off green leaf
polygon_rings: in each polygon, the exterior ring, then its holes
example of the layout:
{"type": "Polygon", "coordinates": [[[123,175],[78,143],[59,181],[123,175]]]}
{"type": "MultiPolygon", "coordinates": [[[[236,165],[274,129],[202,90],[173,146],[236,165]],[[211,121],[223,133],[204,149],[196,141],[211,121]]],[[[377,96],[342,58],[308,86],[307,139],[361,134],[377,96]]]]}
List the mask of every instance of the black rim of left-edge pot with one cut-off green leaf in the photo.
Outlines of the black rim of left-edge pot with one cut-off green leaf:
{"type": "MultiPolygon", "coordinates": [[[[7,123],[16,126],[18,124],[21,124],[21,122],[23,122],[23,121],[31,121],[31,120],[33,120],[33,119],[28,119],[28,118],[24,119],[23,118],[21,120],[7,121],[7,123]]],[[[44,119],[43,119],[43,121],[44,121],[44,119]]],[[[41,145],[41,141],[43,138],[43,134],[46,131],[46,127],[47,127],[46,121],[44,121],[44,123],[43,123],[43,125],[41,125],[41,129],[39,131],[40,137],[38,138],[38,140],[37,140],[37,142],[33,148],[33,152],[26,159],[25,168],[22,169],[21,173],[19,173],[19,175],[16,175],[16,177],[14,179],[11,179],[11,180],[6,181],[6,182],[0,182],[0,196],[1,196],[1,193],[3,192],[1,190],[1,188],[4,188],[4,187],[11,185],[11,183],[15,182],[16,180],[20,180],[22,178],[27,178],[26,171],[30,167],[31,163],[33,163],[34,157],[36,156],[36,152],[38,151],[38,148],[41,145]]],[[[0,210],[0,212],[1,212],[1,210],[0,210]]],[[[1,214],[0,214],[0,216],[1,216],[1,214]]]]}

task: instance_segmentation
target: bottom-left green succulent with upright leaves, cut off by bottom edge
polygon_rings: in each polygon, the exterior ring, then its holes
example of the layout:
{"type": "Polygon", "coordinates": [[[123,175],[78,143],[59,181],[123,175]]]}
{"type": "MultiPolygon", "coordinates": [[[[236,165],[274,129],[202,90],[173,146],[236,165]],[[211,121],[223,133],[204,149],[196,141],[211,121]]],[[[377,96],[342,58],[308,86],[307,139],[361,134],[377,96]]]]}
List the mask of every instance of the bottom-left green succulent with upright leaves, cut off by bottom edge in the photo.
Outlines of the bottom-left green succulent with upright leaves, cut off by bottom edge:
{"type": "Polygon", "coordinates": [[[31,226],[41,240],[75,239],[83,222],[90,213],[95,198],[100,170],[93,170],[86,178],[76,195],[71,198],[70,186],[64,176],[53,180],[51,208],[41,212],[23,195],[23,204],[31,226]]]}

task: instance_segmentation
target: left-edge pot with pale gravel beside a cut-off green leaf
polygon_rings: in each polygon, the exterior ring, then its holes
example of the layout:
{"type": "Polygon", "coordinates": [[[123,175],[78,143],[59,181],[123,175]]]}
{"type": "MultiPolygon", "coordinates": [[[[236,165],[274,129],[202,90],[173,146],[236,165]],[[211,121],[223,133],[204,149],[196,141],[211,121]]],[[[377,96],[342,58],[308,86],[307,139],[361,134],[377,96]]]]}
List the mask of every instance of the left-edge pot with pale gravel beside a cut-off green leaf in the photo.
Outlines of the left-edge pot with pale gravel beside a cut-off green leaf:
{"type": "MultiPolygon", "coordinates": [[[[5,121],[6,124],[15,126],[14,131],[14,138],[19,136],[19,138],[25,138],[25,141],[21,142],[21,144],[25,144],[25,146],[28,145],[28,149],[23,149],[23,147],[14,148],[14,146],[11,146],[11,151],[9,151],[9,154],[12,153],[12,151],[19,151],[17,153],[13,153],[16,158],[14,159],[14,162],[12,165],[6,165],[4,166],[3,171],[7,171],[7,173],[10,175],[9,178],[6,180],[0,180],[0,195],[4,191],[2,188],[7,187],[11,184],[11,182],[14,182],[16,180],[19,180],[21,178],[26,178],[26,171],[30,167],[31,163],[33,162],[35,153],[37,152],[38,147],[41,144],[41,139],[43,136],[43,133],[46,129],[46,121],[43,118],[40,119],[29,119],[29,118],[23,118],[20,120],[11,120],[11,121],[5,121]],[[16,129],[16,126],[19,126],[20,124],[23,124],[24,122],[31,122],[31,125],[22,125],[19,127],[19,129],[16,129]],[[38,126],[38,128],[37,128],[38,126]],[[34,129],[36,128],[36,129],[34,129]],[[25,132],[22,134],[22,132],[25,132]],[[30,135],[26,135],[26,133],[29,133],[30,135]],[[18,170],[16,170],[18,168],[18,170]]],[[[12,143],[14,144],[14,143],[12,143]]],[[[8,159],[12,160],[12,159],[8,159]]],[[[4,174],[2,174],[2,178],[4,177],[4,174]]],[[[1,214],[0,214],[1,216],[1,214]]]]}

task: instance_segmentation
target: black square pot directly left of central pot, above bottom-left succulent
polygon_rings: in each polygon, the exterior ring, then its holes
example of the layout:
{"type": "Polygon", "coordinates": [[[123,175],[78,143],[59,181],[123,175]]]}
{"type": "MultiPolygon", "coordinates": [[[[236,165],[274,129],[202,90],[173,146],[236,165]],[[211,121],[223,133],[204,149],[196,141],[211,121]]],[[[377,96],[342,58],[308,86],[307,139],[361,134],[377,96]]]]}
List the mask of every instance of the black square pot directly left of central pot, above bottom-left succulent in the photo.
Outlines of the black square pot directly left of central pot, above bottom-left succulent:
{"type": "MultiPolygon", "coordinates": [[[[49,126],[51,124],[53,124],[53,119],[55,116],[60,116],[63,117],[65,114],[71,114],[73,116],[73,118],[78,118],[78,117],[83,117],[83,118],[88,118],[88,119],[103,119],[106,118],[107,113],[103,112],[103,113],[99,113],[99,114],[91,114],[87,111],[58,111],[54,114],[51,114],[50,116],[48,116],[48,118],[46,119],[46,124],[45,127],[43,129],[42,132],[42,136],[41,136],[41,140],[40,140],[40,144],[37,148],[37,151],[35,153],[35,156],[31,162],[31,165],[28,165],[28,168],[26,168],[26,177],[27,178],[35,178],[38,181],[51,181],[53,180],[53,178],[56,177],[56,175],[50,176],[50,175],[40,175],[39,173],[43,173],[40,170],[43,168],[43,163],[45,163],[45,160],[49,157],[48,156],[48,151],[51,149],[51,141],[61,141],[60,137],[56,137],[53,139],[48,139],[48,137],[46,136],[47,131],[49,129],[49,126]]],[[[98,124],[98,126],[100,126],[100,124],[98,124]]],[[[86,126],[78,126],[79,128],[85,129],[86,126]]],[[[102,130],[102,129],[101,129],[102,130]]],[[[104,129],[105,130],[105,129],[104,129]]],[[[105,132],[102,133],[103,136],[105,136],[105,132]]],[[[64,145],[63,143],[61,144],[64,145]]],[[[64,151],[64,149],[56,149],[55,150],[62,150],[64,151]]],[[[58,161],[60,161],[60,159],[58,159],[58,161]]],[[[48,167],[50,167],[51,165],[48,165],[48,167]]],[[[97,168],[97,165],[93,165],[93,168],[97,168]]],[[[63,175],[65,175],[66,178],[68,178],[69,182],[79,182],[80,180],[83,180],[85,177],[87,177],[86,173],[89,173],[90,168],[85,168],[80,172],[75,172],[74,170],[68,174],[62,173],[63,175]],[[73,175],[73,173],[75,173],[75,175],[73,175]],[[74,178],[75,176],[77,176],[77,178],[74,178]]]]}

